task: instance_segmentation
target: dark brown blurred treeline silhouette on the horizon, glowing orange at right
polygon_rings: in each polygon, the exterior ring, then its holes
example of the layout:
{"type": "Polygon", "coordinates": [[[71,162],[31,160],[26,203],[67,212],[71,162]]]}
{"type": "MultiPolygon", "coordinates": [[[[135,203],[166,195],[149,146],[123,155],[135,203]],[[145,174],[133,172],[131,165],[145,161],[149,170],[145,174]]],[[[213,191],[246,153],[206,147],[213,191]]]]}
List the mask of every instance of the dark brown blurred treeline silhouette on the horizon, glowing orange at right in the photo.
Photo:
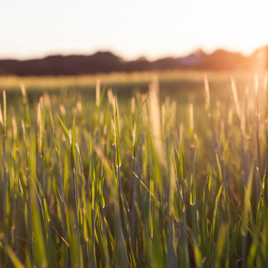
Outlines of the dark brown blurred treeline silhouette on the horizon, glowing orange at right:
{"type": "Polygon", "coordinates": [[[111,52],[95,54],[48,56],[32,60],[0,60],[0,75],[82,75],[108,72],[152,71],[165,69],[235,70],[267,67],[268,46],[256,50],[251,56],[216,50],[206,54],[202,50],[186,57],[166,57],[148,61],[145,57],[125,61],[111,52]]]}

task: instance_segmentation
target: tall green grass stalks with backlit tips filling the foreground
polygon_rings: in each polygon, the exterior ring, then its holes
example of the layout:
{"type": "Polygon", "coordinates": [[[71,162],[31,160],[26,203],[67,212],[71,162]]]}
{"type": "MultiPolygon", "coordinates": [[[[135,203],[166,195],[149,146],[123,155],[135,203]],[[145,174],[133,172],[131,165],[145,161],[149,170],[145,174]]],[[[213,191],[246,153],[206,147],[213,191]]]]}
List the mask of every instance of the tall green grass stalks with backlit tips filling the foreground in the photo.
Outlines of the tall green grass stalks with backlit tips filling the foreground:
{"type": "Polygon", "coordinates": [[[267,267],[267,97],[231,79],[214,107],[204,81],[179,123],[157,78],[131,100],[3,91],[0,267],[267,267]]]}

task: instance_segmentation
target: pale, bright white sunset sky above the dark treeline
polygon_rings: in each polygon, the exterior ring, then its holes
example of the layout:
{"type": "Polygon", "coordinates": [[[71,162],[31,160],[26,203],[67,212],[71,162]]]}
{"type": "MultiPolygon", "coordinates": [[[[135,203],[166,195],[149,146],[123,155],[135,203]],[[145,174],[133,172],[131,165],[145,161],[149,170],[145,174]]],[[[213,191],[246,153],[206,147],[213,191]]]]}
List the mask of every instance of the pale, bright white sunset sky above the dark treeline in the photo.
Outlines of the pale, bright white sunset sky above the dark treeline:
{"type": "Polygon", "coordinates": [[[0,59],[111,51],[126,60],[268,45],[266,0],[0,0],[0,59]]]}

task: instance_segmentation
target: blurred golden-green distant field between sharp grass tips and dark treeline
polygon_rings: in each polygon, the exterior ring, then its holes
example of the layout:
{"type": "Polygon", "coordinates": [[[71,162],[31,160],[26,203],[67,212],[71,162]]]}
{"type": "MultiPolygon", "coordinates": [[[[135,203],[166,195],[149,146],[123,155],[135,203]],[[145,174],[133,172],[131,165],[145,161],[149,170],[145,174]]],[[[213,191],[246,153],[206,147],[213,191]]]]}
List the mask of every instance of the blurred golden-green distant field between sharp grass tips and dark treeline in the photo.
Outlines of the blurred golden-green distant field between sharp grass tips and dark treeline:
{"type": "MultiPolygon", "coordinates": [[[[206,72],[210,82],[210,94],[213,100],[220,100],[224,105],[230,104],[230,77],[233,76],[237,83],[239,96],[244,94],[246,87],[254,85],[254,72],[206,72]]],[[[152,76],[157,75],[160,83],[160,98],[163,100],[170,96],[180,105],[195,102],[196,105],[204,104],[204,72],[203,71],[162,71],[162,72],[133,72],[111,73],[84,76],[48,76],[48,77],[17,77],[0,76],[0,89],[6,89],[7,94],[12,94],[12,101],[20,101],[20,85],[23,83],[29,98],[37,101],[43,92],[51,96],[80,95],[87,101],[94,101],[96,81],[99,79],[101,88],[111,88],[118,95],[119,101],[125,102],[133,91],[148,91],[148,84],[152,76]]],[[[263,73],[260,80],[263,80],[263,73]]],[[[260,83],[262,91],[262,83],[260,83]]],[[[250,90],[250,94],[252,94],[250,90]]],[[[8,100],[9,101],[9,100],[8,100]]],[[[213,105],[215,104],[215,101],[213,105]]]]}

